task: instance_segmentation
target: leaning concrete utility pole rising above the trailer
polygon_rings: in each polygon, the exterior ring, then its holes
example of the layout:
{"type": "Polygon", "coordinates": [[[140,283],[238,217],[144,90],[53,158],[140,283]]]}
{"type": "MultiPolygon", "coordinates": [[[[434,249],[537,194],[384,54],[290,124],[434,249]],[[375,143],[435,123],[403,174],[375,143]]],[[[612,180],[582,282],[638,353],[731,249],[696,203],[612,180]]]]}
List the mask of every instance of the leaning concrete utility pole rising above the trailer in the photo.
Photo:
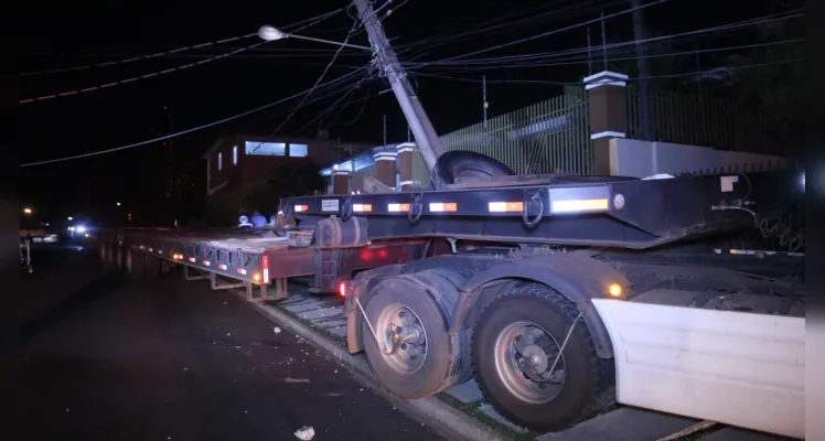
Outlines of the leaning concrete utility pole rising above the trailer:
{"type": "Polygon", "coordinates": [[[436,160],[443,152],[441,140],[438,139],[436,129],[427,117],[421,101],[418,100],[418,96],[407,80],[407,73],[398,63],[398,56],[393,51],[393,46],[390,46],[389,40],[384,33],[384,28],[378,21],[369,0],[354,0],[354,3],[358,10],[358,19],[366,29],[373,53],[378,58],[378,65],[389,80],[389,86],[401,106],[401,111],[407,118],[407,123],[409,123],[427,168],[432,170],[436,160]]]}

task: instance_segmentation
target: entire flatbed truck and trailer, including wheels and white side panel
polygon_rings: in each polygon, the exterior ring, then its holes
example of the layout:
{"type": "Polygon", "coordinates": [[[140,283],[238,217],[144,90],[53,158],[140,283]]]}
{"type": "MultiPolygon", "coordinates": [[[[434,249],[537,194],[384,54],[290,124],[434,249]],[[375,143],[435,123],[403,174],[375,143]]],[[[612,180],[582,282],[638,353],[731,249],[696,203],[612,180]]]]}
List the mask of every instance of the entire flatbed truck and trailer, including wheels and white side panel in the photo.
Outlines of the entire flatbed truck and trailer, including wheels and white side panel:
{"type": "Polygon", "coordinates": [[[474,376],[533,428],[615,398],[800,437],[801,259],[682,249],[800,195],[792,173],[735,176],[287,198],[300,229],[118,229],[101,256],[135,278],[182,265],[250,301],[312,276],[346,298],[350,352],[406,398],[474,376]],[[792,280],[765,276],[780,260],[792,280]]]}

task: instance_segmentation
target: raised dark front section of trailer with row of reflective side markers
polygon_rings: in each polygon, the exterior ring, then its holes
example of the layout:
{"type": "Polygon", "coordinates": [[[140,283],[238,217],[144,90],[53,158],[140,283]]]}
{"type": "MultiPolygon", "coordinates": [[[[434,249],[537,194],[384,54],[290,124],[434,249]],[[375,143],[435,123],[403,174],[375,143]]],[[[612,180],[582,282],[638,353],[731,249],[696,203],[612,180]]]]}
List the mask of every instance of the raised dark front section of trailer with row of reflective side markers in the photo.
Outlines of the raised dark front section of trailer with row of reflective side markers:
{"type": "Polygon", "coordinates": [[[649,249],[752,226],[753,217],[741,208],[784,211],[804,194],[790,172],[661,180],[550,175],[533,178],[529,185],[517,176],[489,181],[481,187],[454,184],[443,191],[301,196],[282,203],[285,214],[306,228],[329,216],[368,218],[372,240],[448,237],[649,249]]]}

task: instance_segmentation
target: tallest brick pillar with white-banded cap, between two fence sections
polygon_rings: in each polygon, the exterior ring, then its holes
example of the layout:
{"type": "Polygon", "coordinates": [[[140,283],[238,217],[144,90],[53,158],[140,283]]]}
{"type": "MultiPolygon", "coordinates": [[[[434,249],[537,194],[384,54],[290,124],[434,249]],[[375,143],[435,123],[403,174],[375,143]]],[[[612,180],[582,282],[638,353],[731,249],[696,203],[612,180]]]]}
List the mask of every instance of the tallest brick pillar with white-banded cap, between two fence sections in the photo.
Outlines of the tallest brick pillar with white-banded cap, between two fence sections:
{"type": "Polygon", "coordinates": [[[611,174],[610,140],[624,138],[624,88],[628,76],[603,71],[585,78],[590,111],[593,174],[611,174]]]}

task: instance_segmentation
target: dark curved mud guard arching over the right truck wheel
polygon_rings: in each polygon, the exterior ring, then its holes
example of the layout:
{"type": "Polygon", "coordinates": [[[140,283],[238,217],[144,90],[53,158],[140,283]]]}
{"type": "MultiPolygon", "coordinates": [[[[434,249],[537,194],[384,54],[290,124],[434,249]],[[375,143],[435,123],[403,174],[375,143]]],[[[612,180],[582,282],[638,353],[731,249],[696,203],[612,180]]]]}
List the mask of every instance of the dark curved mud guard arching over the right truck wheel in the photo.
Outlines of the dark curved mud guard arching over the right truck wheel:
{"type": "Polygon", "coordinates": [[[624,288],[630,282],[624,275],[611,266],[582,256],[566,256],[564,258],[549,258],[548,260],[519,260],[479,272],[461,288],[461,297],[456,305],[450,333],[457,333],[473,324],[474,310],[482,293],[480,288],[490,282],[506,279],[544,283],[576,303],[579,311],[585,312],[582,320],[593,336],[597,355],[600,358],[613,357],[610,335],[591,300],[607,297],[608,287],[611,283],[618,283],[624,288]]]}

